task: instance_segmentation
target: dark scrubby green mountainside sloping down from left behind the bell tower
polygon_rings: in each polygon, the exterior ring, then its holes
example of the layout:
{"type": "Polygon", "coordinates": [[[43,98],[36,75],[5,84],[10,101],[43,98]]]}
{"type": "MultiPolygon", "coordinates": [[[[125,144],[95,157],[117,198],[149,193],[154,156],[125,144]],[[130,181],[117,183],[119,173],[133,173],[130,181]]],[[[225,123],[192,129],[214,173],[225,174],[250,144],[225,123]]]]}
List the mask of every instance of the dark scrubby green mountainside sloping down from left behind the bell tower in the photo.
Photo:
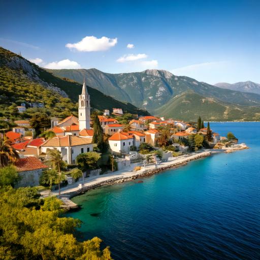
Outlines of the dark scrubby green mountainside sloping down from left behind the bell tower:
{"type": "MultiPolygon", "coordinates": [[[[82,84],[63,80],[25,58],[0,47],[0,118],[30,117],[36,112],[64,117],[77,114],[78,95],[82,84]],[[29,108],[21,115],[16,106],[21,103],[44,103],[44,108],[29,108]]],[[[134,105],[117,101],[97,89],[88,87],[91,107],[98,110],[122,108],[132,114],[149,114],[134,105]]]]}

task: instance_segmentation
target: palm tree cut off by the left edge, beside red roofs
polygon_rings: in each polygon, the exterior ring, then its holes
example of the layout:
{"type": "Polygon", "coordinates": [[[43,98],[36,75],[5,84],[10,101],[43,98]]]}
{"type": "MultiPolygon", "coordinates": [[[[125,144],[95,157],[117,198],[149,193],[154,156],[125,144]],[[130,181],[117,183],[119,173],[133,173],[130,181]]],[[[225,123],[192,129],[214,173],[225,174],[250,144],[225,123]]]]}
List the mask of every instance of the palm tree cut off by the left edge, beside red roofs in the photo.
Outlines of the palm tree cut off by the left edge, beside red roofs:
{"type": "Polygon", "coordinates": [[[12,141],[0,134],[0,168],[13,164],[19,159],[18,152],[11,146],[12,141]]]}

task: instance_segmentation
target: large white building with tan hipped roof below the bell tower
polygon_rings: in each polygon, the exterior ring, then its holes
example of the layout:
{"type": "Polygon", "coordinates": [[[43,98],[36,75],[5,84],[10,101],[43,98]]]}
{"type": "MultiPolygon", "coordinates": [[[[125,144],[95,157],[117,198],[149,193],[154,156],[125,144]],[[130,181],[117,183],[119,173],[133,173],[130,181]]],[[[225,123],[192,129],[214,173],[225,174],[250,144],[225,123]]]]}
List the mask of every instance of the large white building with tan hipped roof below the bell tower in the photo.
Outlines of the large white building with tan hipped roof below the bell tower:
{"type": "Polygon", "coordinates": [[[92,139],[77,136],[53,137],[41,145],[42,152],[57,149],[61,152],[62,160],[67,164],[76,164],[79,154],[93,151],[92,139]]]}

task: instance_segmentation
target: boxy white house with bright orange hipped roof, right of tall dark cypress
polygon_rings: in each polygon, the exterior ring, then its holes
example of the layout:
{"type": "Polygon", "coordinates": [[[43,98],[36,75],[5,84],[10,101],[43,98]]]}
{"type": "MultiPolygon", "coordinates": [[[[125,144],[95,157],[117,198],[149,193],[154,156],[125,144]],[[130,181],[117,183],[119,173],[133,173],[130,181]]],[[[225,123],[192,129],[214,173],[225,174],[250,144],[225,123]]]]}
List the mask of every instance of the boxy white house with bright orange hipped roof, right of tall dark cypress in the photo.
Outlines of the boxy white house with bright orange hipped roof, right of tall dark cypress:
{"type": "Polygon", "coordinates": [[[128,153],[134,145],[134,136],[124,132],[117,132],[108,139],[113,154],[128,153]]]}

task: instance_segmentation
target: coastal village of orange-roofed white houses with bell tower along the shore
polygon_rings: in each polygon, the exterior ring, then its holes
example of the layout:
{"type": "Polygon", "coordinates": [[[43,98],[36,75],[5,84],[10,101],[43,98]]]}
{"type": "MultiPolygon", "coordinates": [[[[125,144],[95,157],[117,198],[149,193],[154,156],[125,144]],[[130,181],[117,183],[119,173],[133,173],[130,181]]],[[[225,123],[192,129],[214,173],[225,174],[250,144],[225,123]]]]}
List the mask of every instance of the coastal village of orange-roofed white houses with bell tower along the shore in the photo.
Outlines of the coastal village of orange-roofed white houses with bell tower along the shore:
{"type": "MultiPolygon", "coordinates": [[[[24,112],[25,104],[17,110],[24,112]]],[[[60,190],[68,193],[74,187],[79,192],[98,176],[112,175],[110,179],[114,180],[119,173],[131,173],[137,177],[147,174],[147,169],[154,172],[208,156],[212,148],[226,152],[245,148],[237,145],[232,133],[221,137],[212,132],[210,124],[204,125],[200,117],[198,122],[184,122],[124,114],[121,108],[103,114],[91,111],[85,81],[79,95],[78,117],[72,114],[48,120],[51,127],[40,135],[27,119],[14,121],[16,126],[9,131],[2,129],[2,146],[9,146],[11,154],[6,162],[1,158],[1,167],[9,164],[8,159],[13,163],[19,174],[16,187],[43,185],[59,195],[60,190]]]]}

